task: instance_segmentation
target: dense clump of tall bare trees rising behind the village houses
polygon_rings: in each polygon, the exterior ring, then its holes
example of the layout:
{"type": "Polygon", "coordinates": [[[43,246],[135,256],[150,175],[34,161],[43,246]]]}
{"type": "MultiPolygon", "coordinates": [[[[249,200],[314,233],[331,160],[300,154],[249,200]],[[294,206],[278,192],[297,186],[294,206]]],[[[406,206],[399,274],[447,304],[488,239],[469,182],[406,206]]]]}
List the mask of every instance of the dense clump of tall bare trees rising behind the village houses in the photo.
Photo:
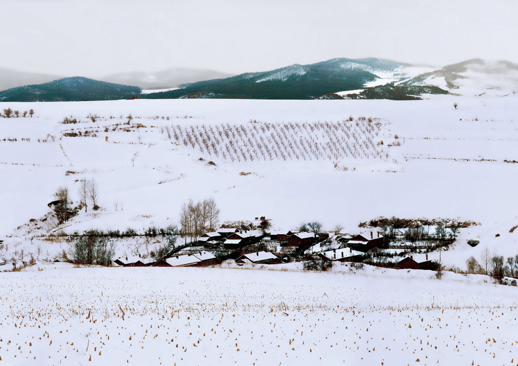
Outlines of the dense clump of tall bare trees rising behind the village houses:
{"type": "Polygon", "coordinates": [[[220,209],[213,199],[184,203],[180,210],[180,235],[191,241],[206,232],[214,231],[218,225],[220,209]]]}

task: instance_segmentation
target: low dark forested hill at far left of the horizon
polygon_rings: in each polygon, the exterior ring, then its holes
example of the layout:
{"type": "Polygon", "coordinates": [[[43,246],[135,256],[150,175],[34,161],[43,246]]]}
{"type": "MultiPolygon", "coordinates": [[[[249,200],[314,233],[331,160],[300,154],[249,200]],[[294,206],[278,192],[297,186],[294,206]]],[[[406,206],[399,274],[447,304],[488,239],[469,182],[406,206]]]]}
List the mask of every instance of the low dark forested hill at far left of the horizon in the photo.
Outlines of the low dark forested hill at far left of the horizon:
{"type": "Polygon", "coordinates": [[[82,77],[64,78],[50,83],[19,86],[0,91],[2,102],[62,102],[134,98],[138,86],[127,86],[82,77]]]}

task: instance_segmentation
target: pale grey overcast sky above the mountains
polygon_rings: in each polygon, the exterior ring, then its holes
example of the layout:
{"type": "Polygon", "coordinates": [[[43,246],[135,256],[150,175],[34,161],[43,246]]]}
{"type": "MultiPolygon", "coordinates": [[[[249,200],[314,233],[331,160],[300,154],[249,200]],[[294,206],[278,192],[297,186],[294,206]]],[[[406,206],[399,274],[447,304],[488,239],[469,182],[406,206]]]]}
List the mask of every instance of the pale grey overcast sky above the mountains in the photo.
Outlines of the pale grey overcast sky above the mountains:
{"type": "Polygon", "coordinates": [[[518,63],[516,0],[0,0],[0,67],[240,73],[334,57],[518,63]]]}

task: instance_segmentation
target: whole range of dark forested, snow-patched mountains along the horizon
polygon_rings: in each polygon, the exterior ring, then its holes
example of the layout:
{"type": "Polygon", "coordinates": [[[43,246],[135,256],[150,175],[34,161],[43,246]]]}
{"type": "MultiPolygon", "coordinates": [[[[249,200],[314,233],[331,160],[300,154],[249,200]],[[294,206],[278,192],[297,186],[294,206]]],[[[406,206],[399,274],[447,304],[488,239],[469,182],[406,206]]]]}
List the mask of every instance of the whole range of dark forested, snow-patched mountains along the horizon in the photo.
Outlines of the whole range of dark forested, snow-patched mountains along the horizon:
{"type": "MultiPolygon", "coordinates": [[[[172,80],[204,74],[170,69],[162,73],[111,75],[122,84],[159,87],[172,80]],[[175,79],[176,78],[176,79],[175,79]],[[163,82],[162,82],[163,81],[163,82]],[[148,84],[146,84],[147,82],[148,84]]],[[[203,71],[203,70],[202,70],[203,71]]],[[[208,77],[216,72],[206,70],[208,77]]],[[[506,96],[518,89],[518,65],[508,61],[467,60],[441,69],[419,67],[380,58],[334,58],[310,65],[291,65],[264,72],[181,84],[175,90],[141,93],[140,87],[64,78],[0,92],[0,101],[76,101],[138,98],[239,99],[422,99],[430,94],[506,96]]]]}

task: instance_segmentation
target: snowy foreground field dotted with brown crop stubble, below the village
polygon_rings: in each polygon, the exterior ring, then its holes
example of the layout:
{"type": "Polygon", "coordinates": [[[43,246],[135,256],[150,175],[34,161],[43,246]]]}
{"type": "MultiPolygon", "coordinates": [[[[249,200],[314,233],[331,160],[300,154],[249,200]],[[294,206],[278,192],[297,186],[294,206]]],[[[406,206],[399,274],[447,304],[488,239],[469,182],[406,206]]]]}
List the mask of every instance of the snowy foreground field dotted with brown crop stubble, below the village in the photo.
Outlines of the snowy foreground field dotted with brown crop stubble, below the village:
{"type": "Polygon", "coordinates": [[[486,276],[52,267],[0,273],[2,363],[516,363],[518,289],[486,276]]]}

